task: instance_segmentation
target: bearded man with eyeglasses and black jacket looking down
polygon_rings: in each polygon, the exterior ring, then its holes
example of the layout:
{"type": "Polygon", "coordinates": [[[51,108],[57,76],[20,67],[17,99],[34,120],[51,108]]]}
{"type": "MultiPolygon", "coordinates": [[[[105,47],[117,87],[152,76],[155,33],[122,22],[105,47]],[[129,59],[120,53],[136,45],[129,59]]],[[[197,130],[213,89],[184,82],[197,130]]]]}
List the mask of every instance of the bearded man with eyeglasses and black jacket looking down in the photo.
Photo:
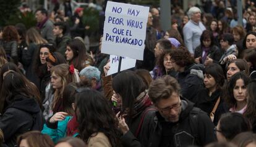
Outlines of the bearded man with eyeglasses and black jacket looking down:
{"type": "Polygon", "coordinates": [[[148,95],[158,111],[143,146],[205,146],[216,141],[210,117],[179,95],[176,79],[164,76],[151,82],[148,95]]]}

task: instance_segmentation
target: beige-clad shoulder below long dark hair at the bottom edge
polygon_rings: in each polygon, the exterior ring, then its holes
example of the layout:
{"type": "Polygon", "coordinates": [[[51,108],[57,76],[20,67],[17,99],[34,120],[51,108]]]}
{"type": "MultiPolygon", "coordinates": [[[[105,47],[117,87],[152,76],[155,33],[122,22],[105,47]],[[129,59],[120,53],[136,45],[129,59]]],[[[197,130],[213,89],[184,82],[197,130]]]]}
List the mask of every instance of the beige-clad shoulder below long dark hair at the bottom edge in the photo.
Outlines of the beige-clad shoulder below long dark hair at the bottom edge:
{"type": "Polygon", "coordinates": [[[97,147],[111,147],[108,137],[102,133],[93,133],[91,137],[88,139],[88,146],[97,146],[97,147]]]}

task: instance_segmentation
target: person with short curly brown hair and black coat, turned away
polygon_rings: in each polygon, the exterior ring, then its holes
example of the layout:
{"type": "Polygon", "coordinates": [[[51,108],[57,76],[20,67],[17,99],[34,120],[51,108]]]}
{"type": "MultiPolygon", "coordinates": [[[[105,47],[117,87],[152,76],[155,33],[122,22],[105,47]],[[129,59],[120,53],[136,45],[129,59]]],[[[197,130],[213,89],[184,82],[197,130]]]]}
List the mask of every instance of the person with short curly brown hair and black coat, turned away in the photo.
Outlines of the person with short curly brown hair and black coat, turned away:
{"type": "Polygon", "coordinates": [[[203,65],[195,64],[187,49],[173,50],[170,54],[173,68],[178,72],[177,81],[181,85],[181,95],[196,103],[198,90],[203,87],[203,65]]]}

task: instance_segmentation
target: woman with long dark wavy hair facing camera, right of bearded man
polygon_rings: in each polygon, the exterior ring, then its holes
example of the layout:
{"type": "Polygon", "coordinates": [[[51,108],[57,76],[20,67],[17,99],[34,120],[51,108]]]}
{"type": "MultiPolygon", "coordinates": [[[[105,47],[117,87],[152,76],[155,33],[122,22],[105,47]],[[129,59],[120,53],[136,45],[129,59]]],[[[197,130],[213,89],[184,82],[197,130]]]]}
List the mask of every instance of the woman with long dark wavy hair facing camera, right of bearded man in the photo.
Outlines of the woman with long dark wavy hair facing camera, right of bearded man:
{"type": "Polygon", "coordinates": [[[250,78],[243,72],[234,74],[224,90],[229,111],[244,114],[247,109],[247,85],[250,78]]]}

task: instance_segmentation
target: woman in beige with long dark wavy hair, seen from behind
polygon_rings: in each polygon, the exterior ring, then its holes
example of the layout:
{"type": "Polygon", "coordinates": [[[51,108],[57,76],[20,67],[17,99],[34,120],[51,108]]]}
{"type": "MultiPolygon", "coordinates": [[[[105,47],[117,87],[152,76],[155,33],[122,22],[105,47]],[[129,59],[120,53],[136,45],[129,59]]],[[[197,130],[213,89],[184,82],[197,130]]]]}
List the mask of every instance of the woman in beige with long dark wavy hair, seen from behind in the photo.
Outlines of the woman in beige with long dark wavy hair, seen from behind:
{"type": "Polygon", "coordinates": [[[75,114],[79,136],[88,146],[121,146],[117,118],[100,92],[82,89],[77,93],[75,114]]]}

